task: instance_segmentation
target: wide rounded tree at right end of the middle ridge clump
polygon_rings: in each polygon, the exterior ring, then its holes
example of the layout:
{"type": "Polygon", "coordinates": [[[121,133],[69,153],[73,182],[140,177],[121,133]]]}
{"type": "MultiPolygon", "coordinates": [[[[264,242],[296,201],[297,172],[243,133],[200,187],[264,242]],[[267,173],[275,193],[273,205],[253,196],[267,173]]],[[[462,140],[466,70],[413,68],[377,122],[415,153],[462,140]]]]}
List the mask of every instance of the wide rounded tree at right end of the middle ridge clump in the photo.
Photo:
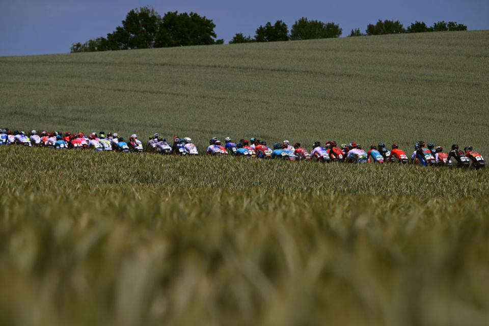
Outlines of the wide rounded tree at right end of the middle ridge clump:
{"type": "Polygon", "coordinates": [[[341,29],[333,22],[323,23],[319,20],[307,20],[302,17],[296,20],[290,30],[291,40],[310,40],[339,37],[341,29]]]}

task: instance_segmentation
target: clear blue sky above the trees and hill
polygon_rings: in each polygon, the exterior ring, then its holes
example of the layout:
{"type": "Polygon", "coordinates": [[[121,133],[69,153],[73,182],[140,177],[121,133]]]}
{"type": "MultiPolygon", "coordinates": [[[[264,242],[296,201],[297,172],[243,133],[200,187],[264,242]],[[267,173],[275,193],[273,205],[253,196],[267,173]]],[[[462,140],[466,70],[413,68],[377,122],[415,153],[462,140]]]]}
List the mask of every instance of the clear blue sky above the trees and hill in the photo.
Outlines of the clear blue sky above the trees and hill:
{"type": "Polygon", "coordinates": [[[489,0],[0,0],[0,56],[67,53],[71,43],[106,36],[125,19],[128,11],[152,6],[168,11],[196,12],[212,19],[218,38],[227,43],[234,34],[255,35],[259,25],[283,20],[289,29],[301,17],[335,22],[343,35],[365,31],[378,19],[428,25],[438,20],[457,21],[469,30],[489,29],[489,0]]]}

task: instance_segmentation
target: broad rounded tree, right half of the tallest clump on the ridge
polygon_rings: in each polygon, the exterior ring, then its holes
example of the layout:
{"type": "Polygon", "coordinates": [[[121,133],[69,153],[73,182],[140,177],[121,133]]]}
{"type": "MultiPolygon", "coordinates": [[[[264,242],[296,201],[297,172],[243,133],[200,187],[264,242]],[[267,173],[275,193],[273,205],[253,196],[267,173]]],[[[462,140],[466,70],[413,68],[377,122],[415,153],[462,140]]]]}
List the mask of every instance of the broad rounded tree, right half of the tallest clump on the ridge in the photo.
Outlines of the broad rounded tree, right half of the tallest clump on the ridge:
{"type": "Polygon", "coordinates": [[[155,44],[157,47],[222,44],[215,40],[215,24],[211,19],[190,14],[167,12],[159,24],[155,44]]]}

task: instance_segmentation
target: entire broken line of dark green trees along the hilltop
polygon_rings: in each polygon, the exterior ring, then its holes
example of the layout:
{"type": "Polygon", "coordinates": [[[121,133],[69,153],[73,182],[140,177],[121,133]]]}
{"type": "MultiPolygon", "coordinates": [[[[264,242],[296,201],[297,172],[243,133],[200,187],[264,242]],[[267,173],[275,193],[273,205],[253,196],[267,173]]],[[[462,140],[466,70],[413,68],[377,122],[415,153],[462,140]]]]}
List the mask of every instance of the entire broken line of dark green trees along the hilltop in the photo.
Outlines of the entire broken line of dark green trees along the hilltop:
{"type": "MultiPolygon", "coordinates": [[[[122,21],[122,26],[117,26],[114,32],[107,34],[107,37],[98,37],[85,43],[73,43],[70,50],[91,52],[223,44],[223,39],[216,39],[214,28],[215,24],[211,19],[201,17],[194,12],[190,14],[167,12],[161,17],[153,8],[141,7],[129,11],[126,19],[122,21]]],[[[376,24],[368,24],[365,34],[360,32],[360,29],[355,29],[351,30],[349,36],[466,30],[466,25],[453,21],[438,21],[430,27],[424,22],[416,21],[404,29],[398,20],[379,20],[376,24]]],[[[267,22],[265,25],[260,25],[253,37],[236,33],[229,43],[334,38],[339,37],[341,33],[342,29],[334,22],[324,23],[302,17],[294,22],[290,34],[287,25],[282,20],[277,20],[275,24],[267,22]]]]}

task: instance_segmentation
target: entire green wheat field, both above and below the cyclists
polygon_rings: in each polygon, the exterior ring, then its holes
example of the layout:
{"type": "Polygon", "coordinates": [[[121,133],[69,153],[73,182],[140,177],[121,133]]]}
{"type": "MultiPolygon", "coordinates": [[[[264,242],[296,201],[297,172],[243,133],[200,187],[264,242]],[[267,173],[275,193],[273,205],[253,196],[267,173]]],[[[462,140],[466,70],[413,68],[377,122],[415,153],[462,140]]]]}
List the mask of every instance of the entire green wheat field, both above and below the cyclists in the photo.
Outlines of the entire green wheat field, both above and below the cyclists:
{"type": "MultiPolygon", "coordinates": [[[[489,31],[0,57],[0,126],[489,157],[489,31]]],[[[489,172],[0,147],[5,325],[487,325],[489,172]]]]}

